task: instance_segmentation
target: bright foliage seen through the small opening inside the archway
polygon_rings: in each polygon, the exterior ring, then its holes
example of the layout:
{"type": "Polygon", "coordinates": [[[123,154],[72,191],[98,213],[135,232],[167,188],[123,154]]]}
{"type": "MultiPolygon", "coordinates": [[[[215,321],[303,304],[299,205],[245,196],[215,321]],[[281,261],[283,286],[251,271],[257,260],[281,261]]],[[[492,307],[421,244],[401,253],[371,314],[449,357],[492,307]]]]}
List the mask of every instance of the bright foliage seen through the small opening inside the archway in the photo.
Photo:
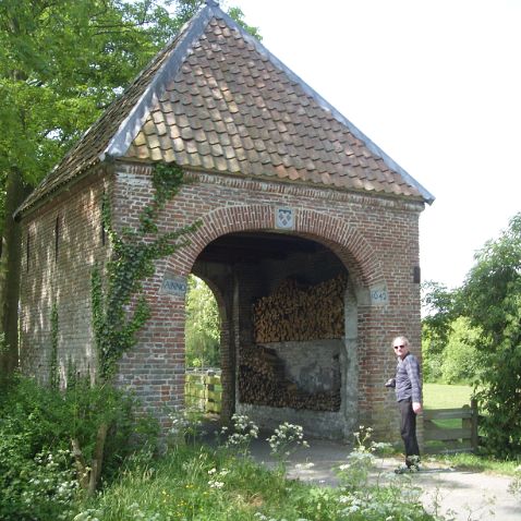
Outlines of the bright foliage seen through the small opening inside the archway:
{"type": "Polygon", "coordinates": [[[186,295],[186,364],[218,367],[220,320],[211,290],[190,276],[186,295]]]}

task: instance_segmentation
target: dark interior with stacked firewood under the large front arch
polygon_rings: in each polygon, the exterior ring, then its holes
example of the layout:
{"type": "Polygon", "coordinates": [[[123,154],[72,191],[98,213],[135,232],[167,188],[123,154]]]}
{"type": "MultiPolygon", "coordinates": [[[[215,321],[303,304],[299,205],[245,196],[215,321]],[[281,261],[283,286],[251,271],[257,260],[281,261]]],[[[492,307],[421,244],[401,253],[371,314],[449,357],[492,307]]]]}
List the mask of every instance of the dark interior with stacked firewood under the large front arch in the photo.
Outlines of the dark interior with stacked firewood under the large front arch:
{"type": "Polygon", "coordinates": [[[328,246],[289,233],[227,233],[201,251],[192,272],[218,296],[223,419],[239,411],[324,437],[351,431],[356,305],[328,246]]]}

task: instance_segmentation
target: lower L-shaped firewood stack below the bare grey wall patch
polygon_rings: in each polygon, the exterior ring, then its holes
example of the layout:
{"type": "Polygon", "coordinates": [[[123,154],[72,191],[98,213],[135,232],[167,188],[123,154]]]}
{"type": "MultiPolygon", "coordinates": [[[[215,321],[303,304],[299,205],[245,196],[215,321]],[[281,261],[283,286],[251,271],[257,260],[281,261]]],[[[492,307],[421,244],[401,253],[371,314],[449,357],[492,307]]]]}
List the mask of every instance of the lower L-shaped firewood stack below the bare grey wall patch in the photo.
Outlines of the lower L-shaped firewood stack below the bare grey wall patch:
{"type": "Polygon", "coordinates": [[[242,348],[239,368],[241,402],[310,411],[338,411],[340,389],[310,393],[284,375],[283,361],[272,349],[242,348]]]}

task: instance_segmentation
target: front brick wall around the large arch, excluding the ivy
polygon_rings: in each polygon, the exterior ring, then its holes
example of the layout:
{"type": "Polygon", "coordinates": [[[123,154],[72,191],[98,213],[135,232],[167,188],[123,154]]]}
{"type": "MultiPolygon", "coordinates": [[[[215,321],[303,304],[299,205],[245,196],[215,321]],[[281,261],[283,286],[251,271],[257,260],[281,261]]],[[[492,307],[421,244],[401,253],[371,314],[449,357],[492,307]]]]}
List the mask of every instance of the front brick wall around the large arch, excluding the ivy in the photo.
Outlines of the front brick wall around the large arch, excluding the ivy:
{"type": "MultiPolygon", "coordinates": [[[[157,295],[165,272],[186,276],[202,250],[222,234],[274,230],[275,207],[290,206],[296,213],[294,232],[330,247],[350,274],[358,296],[360,420],[388,432],[393,396],[381,383],[395,366],[390,341],[405,331],[413,346],[420,346],[420,288],[413,281],[413,269],[419,265],[417,223],[423,205],[284,183],[192,175],[196,182],[185,186],[166,208],[162,229],[198,218],[203,226],[192,245],[161,263],[149,281],[155,315],[143,334],[142,346],[122,362],[121,381],[137,385],[146,397],[154,393],[165,401],[182,388],[183,302],[182,298],[157,295]],[[385,305],[372,305],[373,287],[387,290],[385,305]],[[168,328],[165,322],[170,324],[168,328]],[[160,349],[155,350],[155,346],[160,349]]],[[[146,177],[146,168],[120,167],[114,214],[121,216],[122,225],[131,225],[147,201],[146,177]]],[[[246,291],[244,284],[242,291],[246,291]]],[[[250,303],[247,299],[245,302],[250,303]]],[[[235,312],[233,335],[238,342],[251,341],[247,329],[241,327],[247,324],[250,313],[235,312]]]]}

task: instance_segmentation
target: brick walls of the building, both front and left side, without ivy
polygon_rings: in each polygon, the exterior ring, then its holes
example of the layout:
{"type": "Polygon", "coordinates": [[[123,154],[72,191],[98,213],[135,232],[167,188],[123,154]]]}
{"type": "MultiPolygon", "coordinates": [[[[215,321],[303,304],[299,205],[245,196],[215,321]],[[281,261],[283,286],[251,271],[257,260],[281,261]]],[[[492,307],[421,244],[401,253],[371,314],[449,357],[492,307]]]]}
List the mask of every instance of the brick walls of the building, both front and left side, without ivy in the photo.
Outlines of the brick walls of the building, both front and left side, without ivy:
{"type": "MultiPolygon", "coordinates": [[[[149,173],[143,166],[116,166],[117,226],[135,225],[140,210],[150,201],[149,173]]],[[[356,334],[347,344],[355,350],[358,359],[356,371],[348,369],[358,379],[358,410],[350,411],[351,422],[356,414],[356,421],[388,435],[396,414],[393,396],[383,381],[395,367],[392,337],[407,335],[413,352],[420,354],[420,287],[413,282],[413,269],[419,265],[419,216],[423,204],[298,183],[196,172],[189,177],[195,182],[185,185],[167,205],[160,216],[160,229],[174,229],[197,218],[203,226],[193,234],[189,247],[159,262],[156,275],[146,281],[153,317],[140,336],[140,344],[121,361],[119,383],[134,387],[156,411],[163,404],[182,404],[184,295],[160,293],[163,278],[186,277],[203,249],[222,234],[274,230],[276,208],[290,207],[294,211],[294,229],[290,232],[329,247],[349,272],[356,334]]],[[[97,223],[102,186],[101,182],[85,186],[52,209],[35,214],[36,220],[31,217],[25,221],[25,229],[34,237],[29,243],[35,246],[29,244],[29,266],[22,283],[22,346],[24,365],[33,372],[46,372],[49,310],[54,298],[61,308],[62,364],[65,353],[71,353],[82,367],[93,363],[89,272],[94,260],[104,254],[97,223]],[[57,215],[63,217],[63,239],[68,238],[58,262],[52,258],[57,215]]],[[[23,269],[25,272],[27,267],[23,269]]],[[[249,313],[241,310],[241,302],[245,302],[241,294],[250,282],[249,277],[242,277],[241,293],[240,279],[221,287],[227,294],[233,291],[228,300],[223,296],[231,313],[223,328],[230,349],[249,341],[250,335],[247,327],[240,330],[249,313]],[[239,306],[234,313],[233,306],[239,306]]]]}

